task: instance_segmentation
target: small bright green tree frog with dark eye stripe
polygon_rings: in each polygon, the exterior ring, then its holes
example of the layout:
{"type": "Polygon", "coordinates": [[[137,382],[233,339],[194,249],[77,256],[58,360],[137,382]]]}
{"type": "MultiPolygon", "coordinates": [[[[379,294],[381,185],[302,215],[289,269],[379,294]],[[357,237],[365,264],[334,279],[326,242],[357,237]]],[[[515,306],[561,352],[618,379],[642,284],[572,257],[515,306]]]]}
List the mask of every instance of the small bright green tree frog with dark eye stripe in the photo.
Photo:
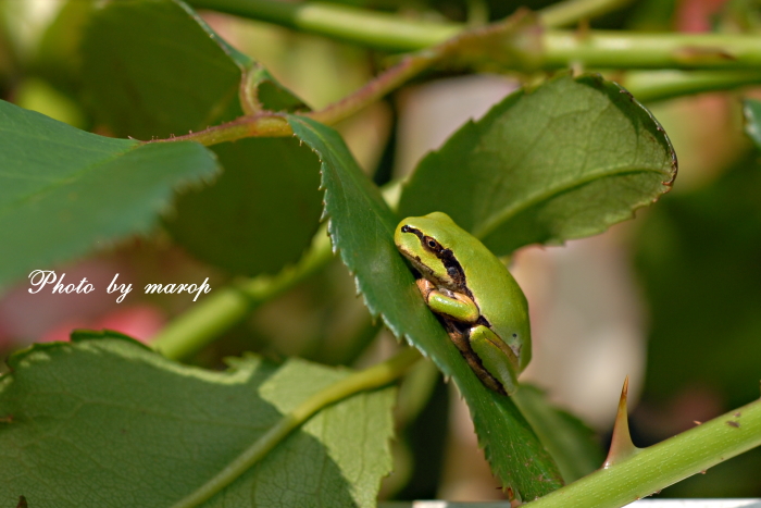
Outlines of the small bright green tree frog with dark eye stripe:
{"type": "Polygon", "coordinates": [[[532,339],[526,297],[504,264],[442,212],[404,219],[394,240],[478,379],[496,392],[515,393],[532,339]]]}

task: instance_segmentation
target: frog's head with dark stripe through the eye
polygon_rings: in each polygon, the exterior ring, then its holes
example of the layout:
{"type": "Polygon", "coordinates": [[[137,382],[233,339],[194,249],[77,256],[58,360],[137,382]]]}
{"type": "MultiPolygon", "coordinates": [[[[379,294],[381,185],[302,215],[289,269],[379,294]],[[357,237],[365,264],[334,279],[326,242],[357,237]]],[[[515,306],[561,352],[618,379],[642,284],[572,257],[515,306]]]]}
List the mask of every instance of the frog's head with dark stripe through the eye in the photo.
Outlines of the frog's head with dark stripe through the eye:
{"type": "Polygon", "coordinates": [[[449,215],[433,212],[401,221],[394,233],[394,241],[423,277],[457,292],[465,287],[465,274],[452,253],[459,231],[460,226],[449,215]]]}

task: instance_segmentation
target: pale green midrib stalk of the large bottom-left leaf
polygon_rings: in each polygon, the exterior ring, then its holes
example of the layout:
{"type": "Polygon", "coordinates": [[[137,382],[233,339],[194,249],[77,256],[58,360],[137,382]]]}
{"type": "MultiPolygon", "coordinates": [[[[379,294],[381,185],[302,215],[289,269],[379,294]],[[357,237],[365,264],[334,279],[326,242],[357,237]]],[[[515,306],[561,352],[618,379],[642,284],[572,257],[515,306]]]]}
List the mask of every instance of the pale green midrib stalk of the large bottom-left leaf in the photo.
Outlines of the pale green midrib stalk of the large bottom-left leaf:
{"type": "Polygon", "coordinates": [[[348,398],[361,392],[385,386],[400,377],[415,363],[421,354],[413,347],[407,347],[394,358],[365,369],[335,383],[301,402],[290,413],[285,414],[275,425],[265,432],[255,443],[228,463],[214,478],[201,485],[196,492],[176,503],[172,508],[192,508],[210,499],[224,487],[233,483],[254,463],[261,460],[296,428],[303,424],[314,413],[326,406],[348,398]]]}

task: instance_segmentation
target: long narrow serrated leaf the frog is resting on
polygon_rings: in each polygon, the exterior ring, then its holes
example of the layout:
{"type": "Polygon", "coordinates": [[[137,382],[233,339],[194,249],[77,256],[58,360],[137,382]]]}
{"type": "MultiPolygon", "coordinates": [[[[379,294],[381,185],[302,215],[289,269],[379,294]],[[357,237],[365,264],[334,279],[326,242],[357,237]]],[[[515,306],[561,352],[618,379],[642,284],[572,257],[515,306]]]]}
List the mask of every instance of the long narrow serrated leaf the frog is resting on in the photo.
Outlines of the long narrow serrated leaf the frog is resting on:
{"type": "Polygon", "coordinates": [[[290,125],[322,161],[328,232],[354,273],[370,311],[454,380],[471,408],[494,473],[513,496],[528,500],[558,488],[562,482],[557,467],[514,402],[478,381],[424,306],[414,277],[394,245],[398,219],[344,140],[332,128],[305,117],[291,116],[290,125]]]}

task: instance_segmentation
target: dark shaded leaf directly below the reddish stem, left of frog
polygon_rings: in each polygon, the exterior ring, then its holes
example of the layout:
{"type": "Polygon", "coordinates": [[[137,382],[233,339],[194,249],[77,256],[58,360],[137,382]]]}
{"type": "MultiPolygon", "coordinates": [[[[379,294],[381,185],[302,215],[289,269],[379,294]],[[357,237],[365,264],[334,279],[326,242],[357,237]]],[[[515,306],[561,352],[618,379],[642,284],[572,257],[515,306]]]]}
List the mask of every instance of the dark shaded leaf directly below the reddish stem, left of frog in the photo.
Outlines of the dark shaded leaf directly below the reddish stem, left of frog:
{"type": "Polygon", "coordinates": [[[233,273],[277,272],[295,262],[319,225],[320,162],[295,138],[249,138],[214,147],[225,172],[180,194],[166,220],[199,259],[233,273]]]}

